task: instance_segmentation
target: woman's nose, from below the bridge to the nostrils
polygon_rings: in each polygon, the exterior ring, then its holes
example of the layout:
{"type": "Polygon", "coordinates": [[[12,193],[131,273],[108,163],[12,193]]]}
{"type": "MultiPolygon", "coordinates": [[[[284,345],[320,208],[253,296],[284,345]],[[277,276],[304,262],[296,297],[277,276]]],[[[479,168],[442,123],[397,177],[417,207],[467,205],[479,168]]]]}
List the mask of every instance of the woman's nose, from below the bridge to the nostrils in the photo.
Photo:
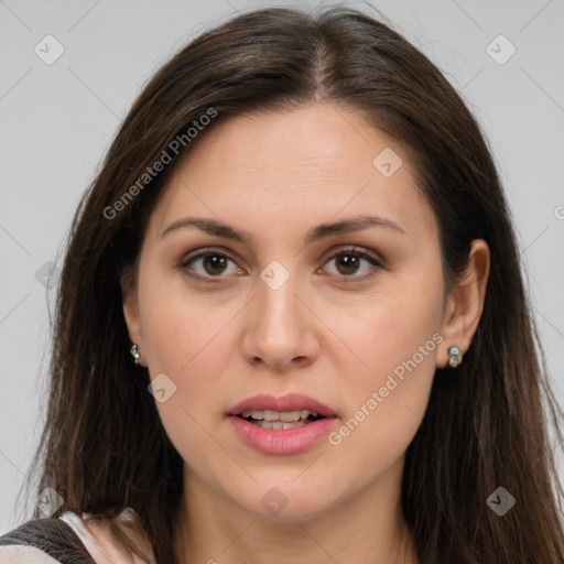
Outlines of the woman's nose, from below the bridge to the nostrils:
{"type": "Polygon", "coordinates": [[[297,275],[291,274],[278,289],[262,280],[257,286],[245,322],[242,351],[247,360],[276,370],[312,364],[319,352],[319,322],[297,275]]]}

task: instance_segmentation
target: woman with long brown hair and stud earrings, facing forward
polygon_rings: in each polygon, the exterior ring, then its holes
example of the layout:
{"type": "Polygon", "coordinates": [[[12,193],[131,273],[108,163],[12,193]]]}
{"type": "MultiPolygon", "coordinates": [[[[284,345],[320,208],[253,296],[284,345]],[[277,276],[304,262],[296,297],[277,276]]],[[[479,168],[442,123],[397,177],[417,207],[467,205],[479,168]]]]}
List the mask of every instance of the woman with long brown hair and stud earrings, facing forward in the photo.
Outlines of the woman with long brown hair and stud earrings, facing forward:
{"type": "Polygon", "coordinates": [[[77,212],[54,343],[51,518],[0,562],[564,560],[495,164],[360,12],[246,13],[158,72],[77,212]]]}

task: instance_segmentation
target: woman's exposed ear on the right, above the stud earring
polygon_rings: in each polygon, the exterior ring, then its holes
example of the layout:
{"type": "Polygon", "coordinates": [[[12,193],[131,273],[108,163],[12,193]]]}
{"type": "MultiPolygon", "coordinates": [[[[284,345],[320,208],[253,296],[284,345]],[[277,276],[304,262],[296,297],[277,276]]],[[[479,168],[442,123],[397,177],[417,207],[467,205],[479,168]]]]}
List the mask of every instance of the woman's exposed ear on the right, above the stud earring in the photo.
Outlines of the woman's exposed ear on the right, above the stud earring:
{"type": "Polygon", "coordinates": [[[471,344],[484,310],[489,259],[488,243],[484,239],[473,240],[468,267],[446,301],[441,328],[444,340],[437,354],[437,368],[448,365],[449,347],[456,345],[464,355],[471,344]]]}

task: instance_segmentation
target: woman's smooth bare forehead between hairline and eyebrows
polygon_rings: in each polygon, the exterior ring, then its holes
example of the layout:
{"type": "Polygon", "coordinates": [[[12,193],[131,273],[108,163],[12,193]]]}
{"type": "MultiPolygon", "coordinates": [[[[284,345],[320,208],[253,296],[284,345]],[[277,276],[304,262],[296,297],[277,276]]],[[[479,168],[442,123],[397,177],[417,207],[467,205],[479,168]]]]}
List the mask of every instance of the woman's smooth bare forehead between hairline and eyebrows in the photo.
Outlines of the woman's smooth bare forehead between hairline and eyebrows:
{"type": "Polygon", "coordinates": [[[195,141],[153,213],[161,231],[188,213],[281,236],[279,224],[289,220],[305,230],[368,212],[414,237],[436,229],[404,148],[359,111],[323,104],[253,112],[219,121],[195,141]]]}

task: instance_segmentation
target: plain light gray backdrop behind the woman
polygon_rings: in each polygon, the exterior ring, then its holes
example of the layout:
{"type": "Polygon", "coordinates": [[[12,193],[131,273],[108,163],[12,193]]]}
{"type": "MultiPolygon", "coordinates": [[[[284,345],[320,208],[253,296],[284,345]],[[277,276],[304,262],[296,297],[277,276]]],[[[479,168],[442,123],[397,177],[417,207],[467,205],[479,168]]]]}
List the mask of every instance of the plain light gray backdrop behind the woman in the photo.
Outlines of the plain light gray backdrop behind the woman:
{"type": "MultiPolygon", "coordinates": [[[[154,69],[204,29],[267,6],[295,2],[0,0],[0,532],[23,517],[17,492],[41,429],[48,360],[53,299],[44,284],[50,262],[61,264],[79,195],[154,69]],[[39,45],[44,57],[56,53],[47,34],[64,48],[51,65],[34,52],[39,45]]],[[[443,69],[485,129],[562,404],[564,0],[372,6],[443,69]],[[496,40],[500,34],[510,44],[496,40]],[[511,44],[514,55],[499,64],[511,44]]],[[[564,477],[560,454],[557,460],[564,477]]],[[[511,494],[519,502],[519,492],[511,494]]]]}

